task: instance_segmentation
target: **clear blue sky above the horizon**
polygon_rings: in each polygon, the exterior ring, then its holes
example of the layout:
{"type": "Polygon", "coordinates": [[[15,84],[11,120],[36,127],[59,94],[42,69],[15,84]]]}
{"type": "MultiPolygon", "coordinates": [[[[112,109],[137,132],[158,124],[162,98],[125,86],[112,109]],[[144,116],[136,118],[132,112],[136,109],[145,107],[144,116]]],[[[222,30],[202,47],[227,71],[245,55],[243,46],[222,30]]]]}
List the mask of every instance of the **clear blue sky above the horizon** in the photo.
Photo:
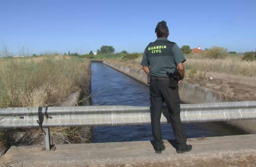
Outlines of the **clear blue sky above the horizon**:
{"type": "MultiPolygon", "coordinates": [[[[0,45],[16,54],[143,52],[167,22],[168,40],[191,49],[256,47],[255,0],[0,0],[0,45]]],[[[1,47],[0,46],[0,47],[1,47]]]]}

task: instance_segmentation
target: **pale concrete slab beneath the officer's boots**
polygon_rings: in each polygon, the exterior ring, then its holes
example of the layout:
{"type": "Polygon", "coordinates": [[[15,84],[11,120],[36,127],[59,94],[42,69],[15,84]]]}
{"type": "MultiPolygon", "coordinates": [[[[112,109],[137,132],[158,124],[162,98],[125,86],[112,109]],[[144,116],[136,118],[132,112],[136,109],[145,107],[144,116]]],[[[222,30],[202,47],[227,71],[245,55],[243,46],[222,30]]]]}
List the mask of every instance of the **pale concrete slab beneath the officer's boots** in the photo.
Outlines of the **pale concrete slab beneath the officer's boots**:
{"type": "Polygon", "coordinates": [[[177,154],[164,141],[166,150],[155,154],[150,141],[101,144],[55,145],[55,151],[41,151],[41,146],[11,147],[0,159],[1,166],[88,166],[157,162],[184,162],[222,159],[256,154],[256,135],[188,139],[189,153],[177,154]]]}

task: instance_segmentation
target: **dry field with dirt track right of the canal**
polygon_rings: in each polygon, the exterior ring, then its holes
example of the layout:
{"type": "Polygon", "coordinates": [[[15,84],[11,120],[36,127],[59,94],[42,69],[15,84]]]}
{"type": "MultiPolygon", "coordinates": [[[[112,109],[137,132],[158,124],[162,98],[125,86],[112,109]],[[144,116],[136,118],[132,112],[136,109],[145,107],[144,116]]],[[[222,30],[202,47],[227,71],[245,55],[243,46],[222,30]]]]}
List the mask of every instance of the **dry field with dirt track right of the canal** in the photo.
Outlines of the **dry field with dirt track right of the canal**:
{"type": "MultiPolygon", "coordinates": [[[[108,56],[107,61],[125,67],[142,70],[142,53],[137,58],[108,56]]],[[[134,57],[134,56],[131,56],[134,57]]],[[[205,58],[204,55],[185,55],[184,81],[236,97],[240,100],[256,100],[256,61],[243,61],[242,56],[226,56],[221,59],[205,58]],[[210,77],[213,76],[211,80],[210,77]]],[[[102,59],[102,55],[101,55],[102,59]]]]}

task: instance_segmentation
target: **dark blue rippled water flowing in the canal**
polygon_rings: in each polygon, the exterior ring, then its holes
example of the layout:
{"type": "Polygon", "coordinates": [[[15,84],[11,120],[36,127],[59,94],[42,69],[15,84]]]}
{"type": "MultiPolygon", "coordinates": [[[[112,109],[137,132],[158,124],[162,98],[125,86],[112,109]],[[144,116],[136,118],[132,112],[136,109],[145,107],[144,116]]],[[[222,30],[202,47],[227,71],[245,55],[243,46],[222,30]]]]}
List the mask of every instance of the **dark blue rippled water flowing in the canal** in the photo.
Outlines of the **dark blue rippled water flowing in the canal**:
{"type": "MultiPolygon", "coordinates": [[[[92,105],[149,106],[149,87],[108,67],[92,62],[92,105]]],[[[221,123],[184,124],[187,138],[241,135],[221,123]]],[[[163,139],[175,139],[170,124],[161,125],[163,139]]],[[[93,127],[92,142],[151,141],[151,125],[93,127]]]]}

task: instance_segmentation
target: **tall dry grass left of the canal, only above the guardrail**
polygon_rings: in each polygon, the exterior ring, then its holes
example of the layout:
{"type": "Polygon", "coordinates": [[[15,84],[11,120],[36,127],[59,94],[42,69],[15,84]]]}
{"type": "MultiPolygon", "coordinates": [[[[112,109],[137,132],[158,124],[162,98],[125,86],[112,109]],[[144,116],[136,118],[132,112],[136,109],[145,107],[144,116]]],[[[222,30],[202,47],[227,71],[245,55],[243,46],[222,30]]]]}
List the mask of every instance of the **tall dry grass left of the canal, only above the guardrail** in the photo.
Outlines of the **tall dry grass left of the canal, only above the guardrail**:
{"type": "Polygon", "coordinates": [[[89,79],[89,61],[73,56],[0,59],[0,108],[56,106],[89,79]]]}

